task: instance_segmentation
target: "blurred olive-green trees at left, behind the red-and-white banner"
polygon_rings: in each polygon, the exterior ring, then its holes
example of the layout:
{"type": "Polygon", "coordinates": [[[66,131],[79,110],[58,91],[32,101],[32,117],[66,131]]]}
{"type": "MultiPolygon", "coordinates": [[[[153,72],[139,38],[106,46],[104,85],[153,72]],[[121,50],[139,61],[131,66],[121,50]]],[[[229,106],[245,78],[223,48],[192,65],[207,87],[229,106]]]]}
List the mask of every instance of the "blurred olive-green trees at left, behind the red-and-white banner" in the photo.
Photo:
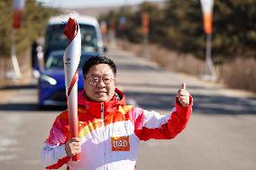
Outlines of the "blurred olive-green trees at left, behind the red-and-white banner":
{"type": "MultiPolygon", "coordinates": [[[[15,31],[16,52],[20,53],[31,47],[32,41],[44,34],[45,26],[51,15],[59,11],[43,6],[35,0],[26,0],[23,10],[22,28],[15,31]]],[[[13,23],[13,1],[0,2],[0,57],[8,57],[11,52],[13,23]]]]}

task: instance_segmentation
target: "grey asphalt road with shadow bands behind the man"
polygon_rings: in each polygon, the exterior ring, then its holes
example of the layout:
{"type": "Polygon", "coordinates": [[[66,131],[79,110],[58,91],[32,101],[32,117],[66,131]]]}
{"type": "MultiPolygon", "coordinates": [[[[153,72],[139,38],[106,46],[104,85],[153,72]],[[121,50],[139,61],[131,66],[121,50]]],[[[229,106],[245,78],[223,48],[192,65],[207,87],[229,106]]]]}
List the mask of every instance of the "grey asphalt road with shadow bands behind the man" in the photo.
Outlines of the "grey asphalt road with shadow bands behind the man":
{"type": "MultiPolygon", "coordinates": [[[[256,169],[253,95],[168,72],[123,51],[110,51],[109,56],[117,64],[117,86],[129,103],[166,114],[182,82],[194,97],[187,129],[176,139],[142,142],[137,169],[256,169]]],[[[40,111],[36,103],[35,81],[0,90],[1,170],[43,169],[41,146],[60,110],[40,111]]]]}

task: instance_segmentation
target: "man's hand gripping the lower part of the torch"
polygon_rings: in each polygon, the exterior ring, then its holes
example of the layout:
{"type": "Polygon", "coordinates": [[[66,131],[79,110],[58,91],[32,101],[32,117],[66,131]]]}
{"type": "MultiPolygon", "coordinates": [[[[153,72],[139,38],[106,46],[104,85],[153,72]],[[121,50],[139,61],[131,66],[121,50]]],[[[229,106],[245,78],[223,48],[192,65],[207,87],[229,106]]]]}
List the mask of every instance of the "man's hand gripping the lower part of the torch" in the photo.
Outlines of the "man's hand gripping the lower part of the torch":
{"type": "Polygon", "coordinates": [[[79,138],[72,138],[69,139],[67,143],[65,143],[66,153],[69,157],[74,157],[81,152],[81,146],[79,142],[79,138]]]}

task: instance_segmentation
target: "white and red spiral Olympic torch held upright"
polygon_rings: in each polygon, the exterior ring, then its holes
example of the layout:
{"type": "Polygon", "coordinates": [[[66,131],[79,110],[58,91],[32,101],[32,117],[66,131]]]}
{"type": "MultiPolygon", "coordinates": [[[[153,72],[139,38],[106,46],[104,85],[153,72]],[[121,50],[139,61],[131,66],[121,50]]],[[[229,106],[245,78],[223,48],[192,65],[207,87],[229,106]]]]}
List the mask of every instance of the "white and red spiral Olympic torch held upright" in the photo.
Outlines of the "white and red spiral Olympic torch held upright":
{"type": "MultiPolygon", "coordinates": [[[[69,18],[64,29],[69,45],[64,53],[65,85],[69,111],[69,130],[72,138],[78,138],[78,64],[81,56],[81,34],[78,22],[69,18]]],[[[72,157],[78,161],[79,156],[72,157]]]]}

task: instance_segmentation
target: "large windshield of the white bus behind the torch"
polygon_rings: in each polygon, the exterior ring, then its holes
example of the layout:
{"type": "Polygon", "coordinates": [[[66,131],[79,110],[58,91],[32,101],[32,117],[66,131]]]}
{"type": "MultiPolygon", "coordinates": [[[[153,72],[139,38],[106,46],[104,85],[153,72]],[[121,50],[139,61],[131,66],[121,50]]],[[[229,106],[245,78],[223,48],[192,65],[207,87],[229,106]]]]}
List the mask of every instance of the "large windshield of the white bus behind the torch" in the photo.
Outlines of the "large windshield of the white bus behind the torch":
{"type": "MultiPolygon", "coordinates": [[[[64,24],[50,25],[47,28],[46,48],[50,51],[52,49],[66,49],[68,39],[64,35],[64,24]]],[[[96,28],[92,25],[79,24],[81,32],[81,49],[87,52],[95,52],[98,50],[96,28]]]]}

